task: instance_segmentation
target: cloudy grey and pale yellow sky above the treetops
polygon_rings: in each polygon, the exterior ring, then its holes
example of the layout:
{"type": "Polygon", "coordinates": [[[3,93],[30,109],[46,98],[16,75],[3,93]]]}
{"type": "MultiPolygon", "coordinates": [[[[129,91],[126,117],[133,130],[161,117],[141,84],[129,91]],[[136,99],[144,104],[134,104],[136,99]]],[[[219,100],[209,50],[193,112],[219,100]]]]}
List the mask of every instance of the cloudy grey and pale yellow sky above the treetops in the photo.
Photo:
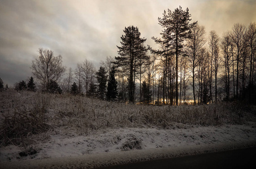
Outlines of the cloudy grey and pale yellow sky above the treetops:
{"type": "Polygon", "coordinates": [[[118,56],[125,26],[137,26],[145,45],[157,48],[151,37],[163,30],[158,17],[179,6],[205,26],[206,37],[256,21],[255,0],[0,0],[0,78],[12,86],[31,77],[38,48],[62,55],[67,70],[85,59],[98,69],[106,56],[118,56]]]}

